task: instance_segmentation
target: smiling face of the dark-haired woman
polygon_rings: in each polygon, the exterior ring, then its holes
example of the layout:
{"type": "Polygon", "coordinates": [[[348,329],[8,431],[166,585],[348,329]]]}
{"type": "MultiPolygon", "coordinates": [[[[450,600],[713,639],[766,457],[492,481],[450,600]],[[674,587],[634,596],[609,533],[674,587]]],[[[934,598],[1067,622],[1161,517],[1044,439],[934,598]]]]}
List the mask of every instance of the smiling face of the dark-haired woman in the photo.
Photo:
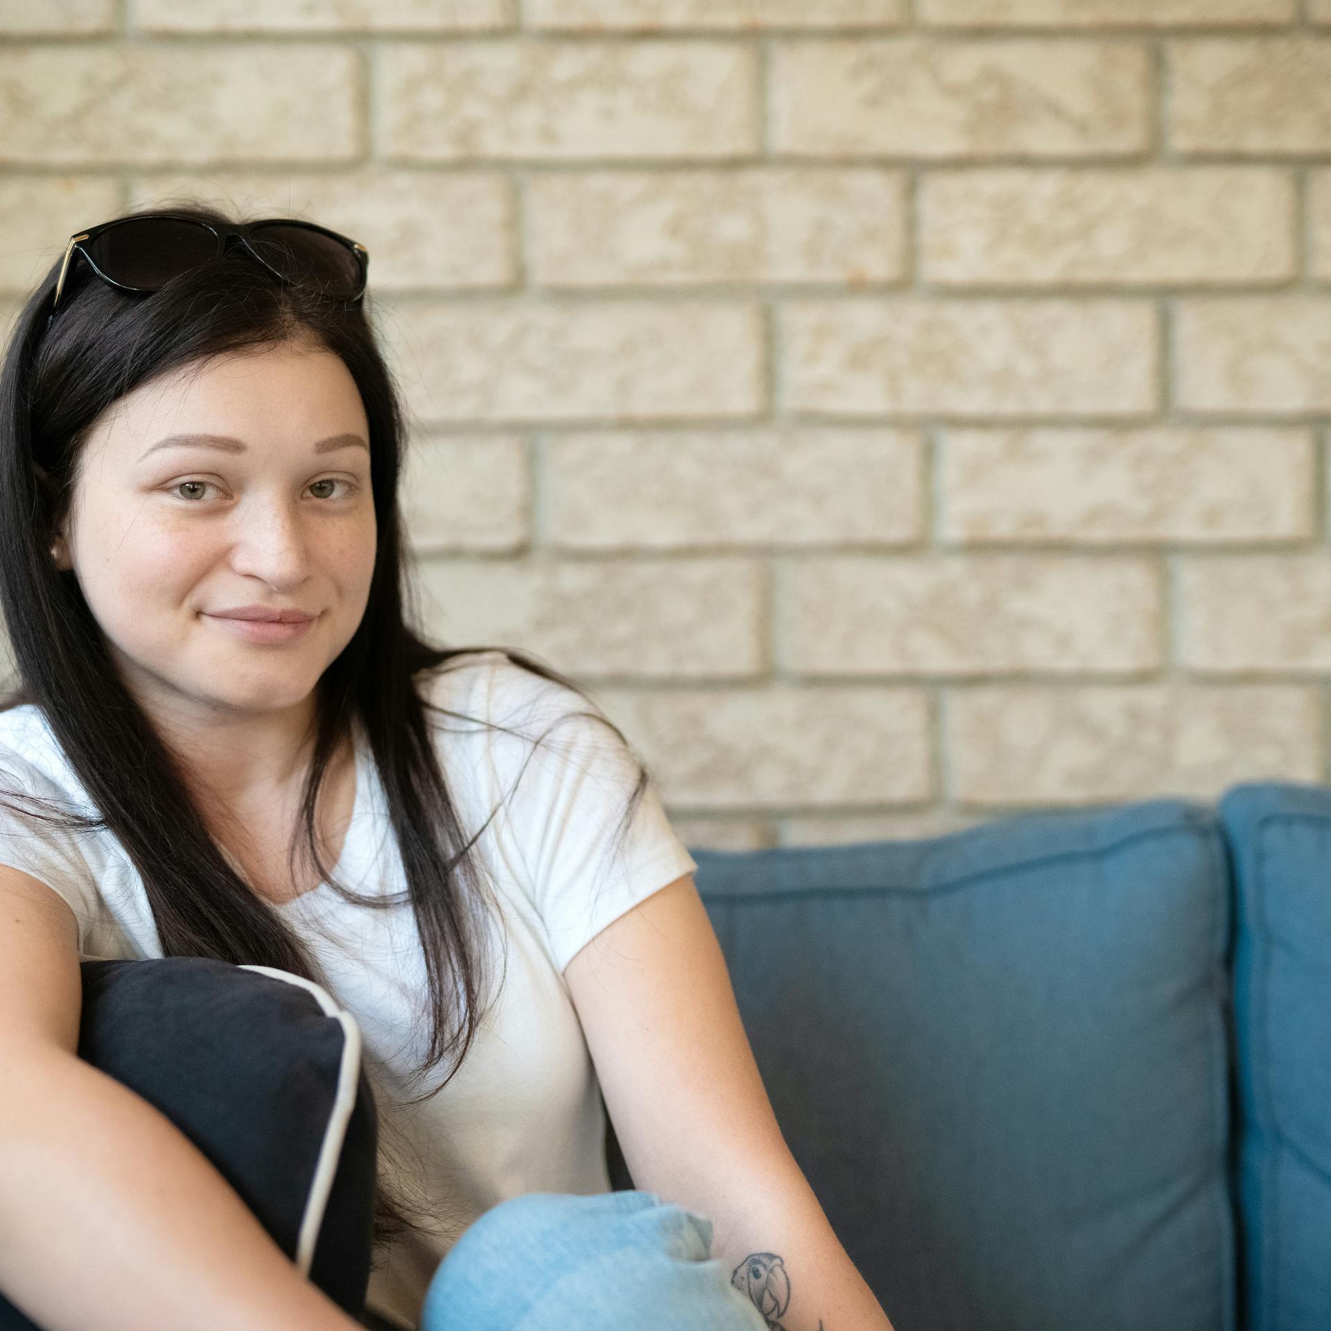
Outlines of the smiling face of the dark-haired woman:
{"type": "Polygon", "coordinates": [[[140,385],[98,418],[59,563],[148,711],[303,712],[369,599],[367,445],[346,366],[294,342],[140,385]],[[162,443],[200,434],[238,445],[162,443]],[[253,642],[212,618],[249,604],[314,620],[253,642]]]}

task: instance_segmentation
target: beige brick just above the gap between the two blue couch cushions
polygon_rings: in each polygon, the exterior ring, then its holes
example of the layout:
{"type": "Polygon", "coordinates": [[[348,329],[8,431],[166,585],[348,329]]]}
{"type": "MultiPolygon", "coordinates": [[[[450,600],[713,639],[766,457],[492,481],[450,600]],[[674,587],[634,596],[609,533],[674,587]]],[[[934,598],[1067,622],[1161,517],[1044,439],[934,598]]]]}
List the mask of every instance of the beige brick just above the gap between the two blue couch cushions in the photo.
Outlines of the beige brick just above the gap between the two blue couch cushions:
{"type": "Polygon", "coordinates": [[[1238,781],[1322,771],[1311,687],[958,688],[946,731],[952,796],[973,807],[1214,801],[1238,781]]]}

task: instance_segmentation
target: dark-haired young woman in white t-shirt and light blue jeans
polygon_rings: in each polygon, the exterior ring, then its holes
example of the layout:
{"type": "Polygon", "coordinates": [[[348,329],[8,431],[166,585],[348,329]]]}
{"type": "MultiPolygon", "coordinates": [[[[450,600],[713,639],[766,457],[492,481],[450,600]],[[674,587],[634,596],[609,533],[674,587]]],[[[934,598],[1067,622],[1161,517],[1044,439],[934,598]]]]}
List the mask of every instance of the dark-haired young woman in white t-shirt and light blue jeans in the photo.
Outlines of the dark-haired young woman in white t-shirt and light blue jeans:
{"type": "Polygon", "coordinates": [[[68,1057],[80,960],[206,956],[361,1026],[366,1324],[890,1331],[623,733],[530,655],[413,627],[366,272],[314,224],[145,209],[72,237],[13,331],[0,1081],[31,1094],[0,1143],[76,1166],[5,1189],[0,1145],[0,1288],[102,1331],[349,1324],[68,1057]],[[610,1191],[602,1095],[642,1191],[610,1191]]]}

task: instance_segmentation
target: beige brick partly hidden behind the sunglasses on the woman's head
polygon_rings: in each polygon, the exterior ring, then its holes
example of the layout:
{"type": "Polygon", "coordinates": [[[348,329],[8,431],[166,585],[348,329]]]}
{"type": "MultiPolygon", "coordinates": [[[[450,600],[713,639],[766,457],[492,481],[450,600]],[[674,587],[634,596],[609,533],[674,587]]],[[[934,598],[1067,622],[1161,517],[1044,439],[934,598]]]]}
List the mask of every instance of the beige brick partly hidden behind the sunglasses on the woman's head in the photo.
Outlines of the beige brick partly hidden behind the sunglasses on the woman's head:
{"type": "Polygon", "coordinates": [[[132,189],[136,206],[188,193],[230,213],[331,226],[370,250],[371,293],[518,282],[516,200],[512,182],[498,172],[209,172],[140,177],[132,189]]]}

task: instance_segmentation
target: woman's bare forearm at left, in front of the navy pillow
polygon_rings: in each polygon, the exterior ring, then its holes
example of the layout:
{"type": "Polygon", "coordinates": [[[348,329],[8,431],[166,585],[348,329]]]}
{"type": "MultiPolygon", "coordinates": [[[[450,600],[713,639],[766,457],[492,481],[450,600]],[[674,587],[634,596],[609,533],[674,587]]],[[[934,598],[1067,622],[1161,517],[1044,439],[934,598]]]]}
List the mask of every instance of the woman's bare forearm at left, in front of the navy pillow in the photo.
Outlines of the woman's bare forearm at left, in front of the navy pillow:
{"type": "Polygon", "coordinates": [[[51,1331],[355,1331],[148,1101],[0,1040],[0,1290],[51,1331]]]}

